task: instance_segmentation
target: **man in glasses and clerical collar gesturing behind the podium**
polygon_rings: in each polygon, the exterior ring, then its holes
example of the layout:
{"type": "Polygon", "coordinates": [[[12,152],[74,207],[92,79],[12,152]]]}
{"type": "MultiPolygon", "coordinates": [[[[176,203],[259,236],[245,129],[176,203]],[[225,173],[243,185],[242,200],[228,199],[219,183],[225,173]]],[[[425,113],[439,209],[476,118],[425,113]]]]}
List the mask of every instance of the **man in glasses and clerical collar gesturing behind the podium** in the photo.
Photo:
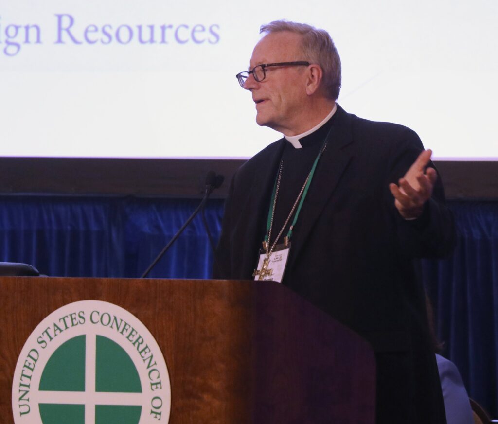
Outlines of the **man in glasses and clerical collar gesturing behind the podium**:
{"type": "Polygon", "coordinates": [[[444,423],[418,258],[451,253],[455,231],[431,151],[336,104],[326,31],[274,21],[261,33],[237,78],[256,122],[283,138],[232,180],[215,277],[279,281],[368,340],[377,423],[444,423]]]}

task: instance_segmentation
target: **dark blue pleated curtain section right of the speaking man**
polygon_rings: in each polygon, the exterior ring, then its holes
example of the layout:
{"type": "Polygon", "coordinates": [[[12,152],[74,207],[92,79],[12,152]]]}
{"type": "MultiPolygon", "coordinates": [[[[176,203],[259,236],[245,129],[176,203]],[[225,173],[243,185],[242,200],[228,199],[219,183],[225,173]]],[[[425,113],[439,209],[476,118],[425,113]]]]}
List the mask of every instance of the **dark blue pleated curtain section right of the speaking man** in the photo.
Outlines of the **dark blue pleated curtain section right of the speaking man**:
{"type": "Polygon", "coordinates": [[[498,202],[451,202],[459,234],[454,255],[426,261],[443,356],[469,395],[498,417],[498,202]]]}

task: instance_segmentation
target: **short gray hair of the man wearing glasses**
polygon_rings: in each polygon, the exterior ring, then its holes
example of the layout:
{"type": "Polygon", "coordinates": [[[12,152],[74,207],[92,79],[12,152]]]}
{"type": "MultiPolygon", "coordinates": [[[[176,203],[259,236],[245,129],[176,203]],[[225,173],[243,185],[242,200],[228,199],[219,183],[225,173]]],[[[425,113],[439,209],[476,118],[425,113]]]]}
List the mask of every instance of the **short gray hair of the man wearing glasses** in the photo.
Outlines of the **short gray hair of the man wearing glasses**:
{"type": "Polygon", "coordinates": [[[329,33],[317,29],[307,23],[274,20],[261,25],[259,33],[289,31],[301,35],[301,47],[304,57],[296,60],[306,60],[320,65],[323,71],[323,86],[327,97],[336,100],[341,90],[341,59],[329,33]]]}

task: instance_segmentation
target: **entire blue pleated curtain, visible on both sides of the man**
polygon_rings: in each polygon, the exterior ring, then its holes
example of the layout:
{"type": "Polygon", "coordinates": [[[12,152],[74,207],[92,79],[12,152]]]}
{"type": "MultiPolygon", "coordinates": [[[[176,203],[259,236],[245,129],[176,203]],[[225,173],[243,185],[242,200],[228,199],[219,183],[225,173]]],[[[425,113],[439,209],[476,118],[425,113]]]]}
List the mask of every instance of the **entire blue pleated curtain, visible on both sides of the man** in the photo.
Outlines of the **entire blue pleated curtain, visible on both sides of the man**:
{"type": "MultiPolygon", "coordinates": [[[[138,277],[199,204],[118,197],[0,197],[0,260],[49,276],[138,277]]],[[[450,202],[459,228],[455,254],[425,261],[443,355],[471,397],[498,416],[498,202],[450,202]]],[[[216,239],[223,201],[206,218],[216,239]]],[[[200,217],[150,273],[209,278],[213,254],[200,217]]]]}

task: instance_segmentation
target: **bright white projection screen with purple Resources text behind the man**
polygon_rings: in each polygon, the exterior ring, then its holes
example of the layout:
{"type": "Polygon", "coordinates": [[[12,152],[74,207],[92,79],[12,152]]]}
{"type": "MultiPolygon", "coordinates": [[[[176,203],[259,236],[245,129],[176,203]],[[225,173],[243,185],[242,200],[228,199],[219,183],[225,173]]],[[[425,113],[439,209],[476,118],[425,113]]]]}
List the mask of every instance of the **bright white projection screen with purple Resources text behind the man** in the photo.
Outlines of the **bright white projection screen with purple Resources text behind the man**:
{"type": "Polygon", "coordinates": [[[280,18],[330,32],[347,111],[413,128],[439,160],[497,160],[491,0],[3,1],[0,156],[250,157],[280,134],[235,74],[280,18]]]}

